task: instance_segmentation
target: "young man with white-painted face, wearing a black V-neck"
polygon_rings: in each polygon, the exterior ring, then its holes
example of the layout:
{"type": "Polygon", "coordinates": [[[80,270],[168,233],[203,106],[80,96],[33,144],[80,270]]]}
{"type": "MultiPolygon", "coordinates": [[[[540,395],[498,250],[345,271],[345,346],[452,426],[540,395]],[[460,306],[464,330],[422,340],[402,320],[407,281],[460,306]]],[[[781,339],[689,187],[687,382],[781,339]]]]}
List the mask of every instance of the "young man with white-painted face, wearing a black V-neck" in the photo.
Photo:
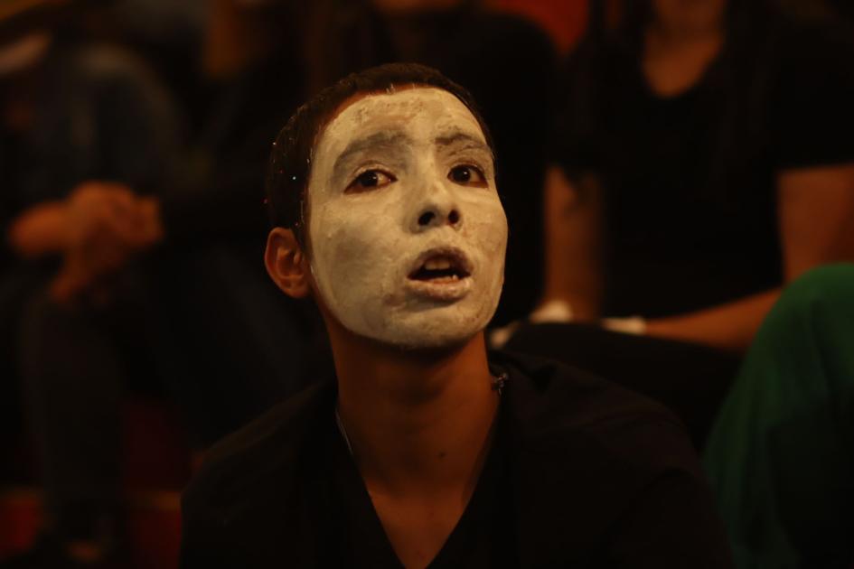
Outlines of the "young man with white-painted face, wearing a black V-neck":
{"type": "Polygon", "coordinates": [[[727,567],[680,425],[555,364],[487,358],[507,223],[464,89],[386,65],[279,135],[267,270],[324,316],[337,381],[211,452],[190,567],[727,567]]]}

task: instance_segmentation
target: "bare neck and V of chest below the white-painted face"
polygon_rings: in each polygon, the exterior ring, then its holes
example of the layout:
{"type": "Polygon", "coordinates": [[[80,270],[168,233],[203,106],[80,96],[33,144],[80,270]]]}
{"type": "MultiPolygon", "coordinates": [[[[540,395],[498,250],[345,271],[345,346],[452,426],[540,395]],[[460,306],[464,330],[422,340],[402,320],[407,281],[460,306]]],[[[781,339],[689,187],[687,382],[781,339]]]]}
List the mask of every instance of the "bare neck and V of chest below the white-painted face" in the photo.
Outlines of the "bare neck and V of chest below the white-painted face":
{"type": "Polygon", "coordinates": [[[403,351],[324,316],[353,459],[399,560],[425,567],[462,517],[492,443],[499,396],[483,332],[453,350],[403,351]]]}

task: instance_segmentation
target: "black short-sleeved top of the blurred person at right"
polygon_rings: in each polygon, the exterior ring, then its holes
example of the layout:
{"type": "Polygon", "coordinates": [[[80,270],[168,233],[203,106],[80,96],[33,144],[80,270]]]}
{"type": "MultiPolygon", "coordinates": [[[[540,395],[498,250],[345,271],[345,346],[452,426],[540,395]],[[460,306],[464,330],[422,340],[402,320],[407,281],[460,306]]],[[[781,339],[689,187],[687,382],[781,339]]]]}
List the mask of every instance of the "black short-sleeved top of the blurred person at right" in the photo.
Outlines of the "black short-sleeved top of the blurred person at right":
{"type": "Polygon", "coordinates": [[[672,97],[652,91],[631,42],[570,63],[554,158],[602,184],[606,312],[690,312],[782,283],[776,176],[854,161],[854,50],[833,30],[778,25],[672,97]]]}

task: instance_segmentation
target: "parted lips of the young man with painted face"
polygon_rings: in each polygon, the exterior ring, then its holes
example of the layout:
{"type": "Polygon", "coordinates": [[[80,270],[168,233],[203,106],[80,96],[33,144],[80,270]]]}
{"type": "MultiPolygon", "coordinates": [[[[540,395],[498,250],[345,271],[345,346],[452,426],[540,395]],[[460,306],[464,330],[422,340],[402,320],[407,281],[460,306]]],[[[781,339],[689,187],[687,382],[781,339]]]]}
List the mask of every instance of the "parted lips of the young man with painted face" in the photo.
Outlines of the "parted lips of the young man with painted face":
{"type": "Polygon", "coordinates": [[[408,288],[418,296],[453,301],[471,290],[472,264],[454,247],[433,248],[418,256],[409,271],[408,288]]]}

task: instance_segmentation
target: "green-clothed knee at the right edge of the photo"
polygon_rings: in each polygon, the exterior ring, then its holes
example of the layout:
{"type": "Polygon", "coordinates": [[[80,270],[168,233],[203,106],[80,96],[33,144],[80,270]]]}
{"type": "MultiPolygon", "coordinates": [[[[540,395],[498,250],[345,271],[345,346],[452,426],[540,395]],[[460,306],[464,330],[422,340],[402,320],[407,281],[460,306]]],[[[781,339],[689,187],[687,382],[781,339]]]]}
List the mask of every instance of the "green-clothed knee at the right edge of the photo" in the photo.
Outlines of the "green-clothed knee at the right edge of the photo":
{"type": "Polygon", "coordinates": [[[815,269],[768,314],[704,453],[738,569],[851,567],[854,265],[815,269]]]}

